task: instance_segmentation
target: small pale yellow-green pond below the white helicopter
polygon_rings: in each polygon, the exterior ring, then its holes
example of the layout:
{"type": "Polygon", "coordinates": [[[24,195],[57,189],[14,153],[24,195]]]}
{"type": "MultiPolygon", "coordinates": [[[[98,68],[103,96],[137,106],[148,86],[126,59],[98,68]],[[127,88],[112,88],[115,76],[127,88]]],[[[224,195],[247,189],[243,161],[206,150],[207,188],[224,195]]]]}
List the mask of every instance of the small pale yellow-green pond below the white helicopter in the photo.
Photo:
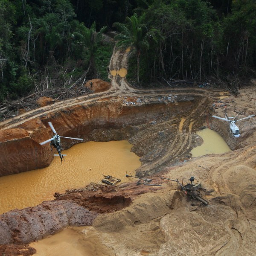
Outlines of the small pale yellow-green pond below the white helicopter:
{"type": "Polygon", "coordinates": [[[213,130],[207,128],[198,131],[196,134],[204,140],[204,143],[192,149],[192,157],[200,157],[206,154],[221,154],[231,151],[224,139],[213,130]]]}

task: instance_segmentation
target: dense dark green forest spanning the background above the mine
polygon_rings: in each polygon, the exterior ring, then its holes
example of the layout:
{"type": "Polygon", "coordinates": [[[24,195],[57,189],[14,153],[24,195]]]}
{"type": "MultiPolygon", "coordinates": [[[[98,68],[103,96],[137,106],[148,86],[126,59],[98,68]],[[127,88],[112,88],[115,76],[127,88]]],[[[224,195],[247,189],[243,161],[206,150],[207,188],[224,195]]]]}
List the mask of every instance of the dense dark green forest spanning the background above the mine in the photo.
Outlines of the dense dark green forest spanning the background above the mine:
{"type": "Polygon", "coordinates": [[[255,14],[255,0],[0,0],[0,99],[107,80],[114,42],[134,85],[255,77],[255,14]]]}

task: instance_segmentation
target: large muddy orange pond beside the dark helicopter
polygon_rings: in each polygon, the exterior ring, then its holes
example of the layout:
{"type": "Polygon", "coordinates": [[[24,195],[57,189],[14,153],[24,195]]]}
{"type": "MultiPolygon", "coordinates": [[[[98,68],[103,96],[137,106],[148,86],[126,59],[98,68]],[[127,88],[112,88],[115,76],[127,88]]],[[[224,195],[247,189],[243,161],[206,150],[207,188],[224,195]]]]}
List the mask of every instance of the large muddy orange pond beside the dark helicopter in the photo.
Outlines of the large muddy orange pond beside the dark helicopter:
{"type": "Polygon", "coordinates": [[[55,157],[46,168],[0,177],[0,214],[52,200],[55,192],[101,183],[103,175],[128,181],[126,172],[133,173],[141,165],[131,147],[126,140],[80,143],[62,151],[67,154],[62,164],[55,157]]]}

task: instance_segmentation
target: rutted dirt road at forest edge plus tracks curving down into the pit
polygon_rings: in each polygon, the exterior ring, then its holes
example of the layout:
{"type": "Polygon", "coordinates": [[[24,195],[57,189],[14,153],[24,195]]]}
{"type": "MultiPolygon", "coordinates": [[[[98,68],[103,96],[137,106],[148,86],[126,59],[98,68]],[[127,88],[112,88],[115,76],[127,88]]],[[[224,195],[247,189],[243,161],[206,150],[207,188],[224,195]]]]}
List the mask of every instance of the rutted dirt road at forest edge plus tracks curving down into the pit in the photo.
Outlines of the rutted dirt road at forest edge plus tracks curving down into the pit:
{"type": "MultiPolygon", "coordinates": [[[[129,52],[128,51],[120,51],[114,50],[113,55],[111,57],[110,69],[120,70],[121,68],[127,69],[127,57],[129,52]]],[[[180,131],[179,126],[177,126],[177,120],[169,120],[162,122],[162,125],[173,125],[172,128],[174,132],[172,133],[172,142],[170,143],[169,147],[164,149],[164,154],[154,163],[145,163],[145,166],[150,165],[152,168],[157,168],[162,166],[164,163],[170,160],[177,160],[184,152],[187,152],[189,148],[192,147],[192,125],[195,122],[193,116],[195,115],[195,111],[200,111],[197,113],[198,116],[202,116],[204,114],[204,110],[202,110],[202,106],[204,105],[206,99],[212,98],[216,99],[221,92],[217,91],[210,91],[202,88],[156,88],[156,89],[137,89],[131,87],[128,82],[126,81],[125,77],[120,77],[119,75],[112,76],[109,74],[109,78],[111,79],[111,88],[108,91],[87,94],[84,96],[79,96],[73,99],[67,99],[61,102],[56,102],[52,105],[47,105],[41,108],[37,108],[35,110],[23,113],[19,116],[15,116],[12,119],[8,119],[2,123],[0,123],[1,129],[9,129],[15,128],[18,125],[23,124],[29,120],[43,117],[49,113],[55,111],[65,110],[67,108],[76,106],[76,105],[86,105],[90,102],[96,102],[97,100],[106,99],[113,100],[116,99],[118,96],[137,96],[137,97],[144,97],[144,96],[162,96],[166,94],[172,95],[185,95],[188,94],[189,96],[200,97],[201,101],[199,102],[198,106],[189,114],[189,116],[184,116],[184,120],[180,120],[180,131]],[[177,126],[177,127],[175,127],[177,126]]],[[[173,97],[172,97],[173,98],[173,97]]],[[[146,103],[146,102],[145,102],[146,103]]],[[[164,102],[162,102],[164,103],[164,102]]],[[[176,102],[178,105],[178,102],[176,102]]]]}

